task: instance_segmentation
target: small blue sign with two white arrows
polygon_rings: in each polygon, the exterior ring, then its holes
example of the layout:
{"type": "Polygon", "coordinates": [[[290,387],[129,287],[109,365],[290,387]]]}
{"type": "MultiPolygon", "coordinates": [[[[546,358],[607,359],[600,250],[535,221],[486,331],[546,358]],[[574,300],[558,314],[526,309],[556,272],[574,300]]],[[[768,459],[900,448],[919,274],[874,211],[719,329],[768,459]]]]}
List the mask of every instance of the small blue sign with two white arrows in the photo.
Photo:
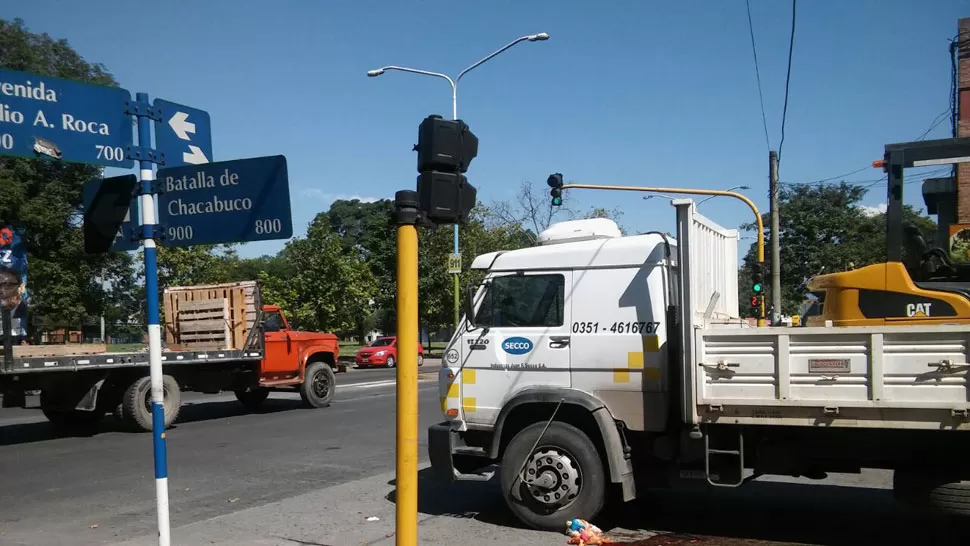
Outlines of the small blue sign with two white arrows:
{"type": "Polygon", "coordinates": [[[155,121],[155,150],[165,154],[165,167],[212,162],[208,112],[162,99],[152,104],[161,118],[155,121]]]}

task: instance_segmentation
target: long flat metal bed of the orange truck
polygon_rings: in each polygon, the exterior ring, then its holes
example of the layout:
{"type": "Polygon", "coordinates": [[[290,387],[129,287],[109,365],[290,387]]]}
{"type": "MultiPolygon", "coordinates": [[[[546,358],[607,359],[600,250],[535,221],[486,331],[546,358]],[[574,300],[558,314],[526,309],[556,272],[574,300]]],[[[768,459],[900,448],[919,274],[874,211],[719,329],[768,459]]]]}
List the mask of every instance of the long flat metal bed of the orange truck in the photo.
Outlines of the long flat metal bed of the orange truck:
{"type": "MultiPolygon", "coordinates": [[[[181,365],[219,361],[238,362],[260,360],[262,358],[263,352],[259,349],[247,351],[166,351],[162,353],[162,364],[181,365]]],[[[148,366],[148,351],[14,358],[12,366],[0,366],[0,374],[19,375],[34,372],[79,371],[131,366],[148,366]]]]}

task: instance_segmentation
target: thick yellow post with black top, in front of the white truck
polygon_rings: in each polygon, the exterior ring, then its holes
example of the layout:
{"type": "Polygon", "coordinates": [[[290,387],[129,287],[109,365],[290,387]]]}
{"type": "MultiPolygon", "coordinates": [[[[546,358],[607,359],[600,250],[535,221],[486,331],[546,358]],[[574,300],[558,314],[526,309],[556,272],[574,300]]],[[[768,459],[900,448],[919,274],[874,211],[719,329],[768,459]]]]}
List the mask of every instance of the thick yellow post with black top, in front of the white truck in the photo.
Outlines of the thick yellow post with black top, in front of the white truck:
{"type": "Polygon", "coordinates": [[[397,493],[395,544],[418,544],[417,194],[395,196],[397,223],[397,493]]]}

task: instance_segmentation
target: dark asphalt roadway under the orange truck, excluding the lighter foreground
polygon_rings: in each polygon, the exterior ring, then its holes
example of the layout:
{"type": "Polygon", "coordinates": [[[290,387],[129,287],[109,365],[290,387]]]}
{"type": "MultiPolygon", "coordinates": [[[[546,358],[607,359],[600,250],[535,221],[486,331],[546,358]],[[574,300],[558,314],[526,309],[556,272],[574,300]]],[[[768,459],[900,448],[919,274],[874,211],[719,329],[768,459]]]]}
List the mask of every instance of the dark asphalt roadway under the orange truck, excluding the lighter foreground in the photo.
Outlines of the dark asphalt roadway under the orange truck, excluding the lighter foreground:
{"type": "MultiPolygon", "coordinates": [[[[172,525],[393,469],[394,373],[338,374],[334,403],[316,410],[290,393],[271,394],[256,414],[232,394],[186,395],[167,435],[172,525]]],[[[440,411],[436,382],[421,383],[421,429],[440,411]]],[[[153,532],[152,464],[151,435],[120,432],[110,418],[93,437],[59,438],[39,410],[0,410],[0,544],[81,546],[153,532]]]]}

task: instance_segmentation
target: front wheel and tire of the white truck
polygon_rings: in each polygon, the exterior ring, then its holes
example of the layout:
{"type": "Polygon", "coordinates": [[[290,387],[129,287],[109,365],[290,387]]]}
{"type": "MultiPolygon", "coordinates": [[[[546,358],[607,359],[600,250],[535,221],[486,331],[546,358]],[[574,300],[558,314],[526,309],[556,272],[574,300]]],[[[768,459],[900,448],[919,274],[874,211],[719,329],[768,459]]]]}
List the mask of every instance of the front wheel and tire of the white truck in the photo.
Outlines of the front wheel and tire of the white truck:
{"type": "Polygon", "coordinates": [[[592,520],[606,502],[606,473],[596,446],[578,428],[553,421],[522,429],[502,456],[502,497],[522,523],[543,531],[561,531],[574,518],[592,520]],[[534,451],[532,446],[536,445],[534,451]],[[527,484],[523,475],[536,480],[527,484]]]}

